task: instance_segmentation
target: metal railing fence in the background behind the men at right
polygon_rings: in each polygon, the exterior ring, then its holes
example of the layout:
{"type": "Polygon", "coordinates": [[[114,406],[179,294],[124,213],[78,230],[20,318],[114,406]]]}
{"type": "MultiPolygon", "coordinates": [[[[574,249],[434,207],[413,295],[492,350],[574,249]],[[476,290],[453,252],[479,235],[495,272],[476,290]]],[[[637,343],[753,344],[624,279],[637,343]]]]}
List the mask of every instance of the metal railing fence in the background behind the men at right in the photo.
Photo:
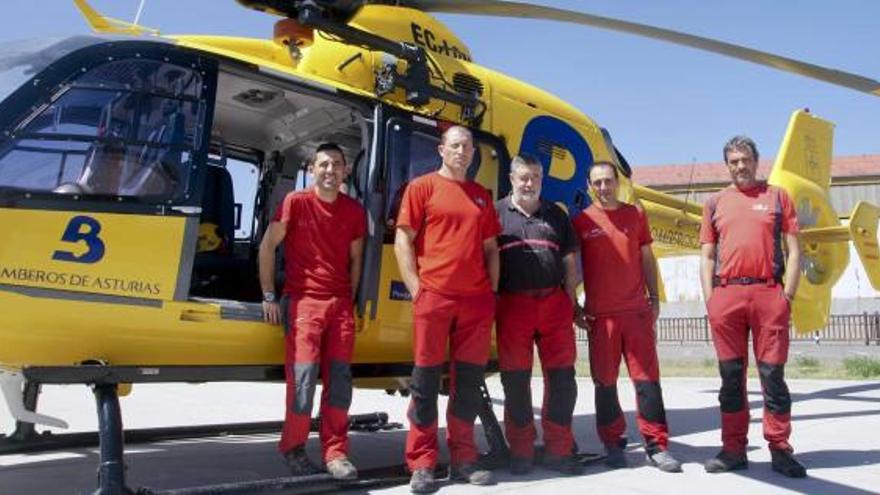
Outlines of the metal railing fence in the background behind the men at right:
{"type": "MultiPolygon", "coordinates": [[[[864,345],[880,345],[880,312],[831,315],[828,325],[817,332],[796,333],[790,329],[792,341],[848,342],[864,345]]],[[[577,338],[587,340],[584,330],[577,330],[577,338]]],[[[709,318],[660,318],[657,322],[658,342],[711,342],[709,318]]]]}

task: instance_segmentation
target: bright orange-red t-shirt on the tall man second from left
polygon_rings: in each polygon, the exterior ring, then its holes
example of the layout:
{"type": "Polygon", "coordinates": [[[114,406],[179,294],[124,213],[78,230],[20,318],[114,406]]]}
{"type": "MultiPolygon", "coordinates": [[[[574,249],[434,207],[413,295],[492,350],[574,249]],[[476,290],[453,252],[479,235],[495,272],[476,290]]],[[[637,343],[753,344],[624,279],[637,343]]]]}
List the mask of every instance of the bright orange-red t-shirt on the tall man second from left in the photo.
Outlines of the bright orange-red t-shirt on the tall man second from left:
{"type": "Polygon", "coordinates": [[[398,227],[416,232],[419,282],[445,295],[474,295],[492,290],[483,257],[483,241],[501,232],[492,196],[473,181],[447,179],[437,172],[407,186],[398,227]]]}

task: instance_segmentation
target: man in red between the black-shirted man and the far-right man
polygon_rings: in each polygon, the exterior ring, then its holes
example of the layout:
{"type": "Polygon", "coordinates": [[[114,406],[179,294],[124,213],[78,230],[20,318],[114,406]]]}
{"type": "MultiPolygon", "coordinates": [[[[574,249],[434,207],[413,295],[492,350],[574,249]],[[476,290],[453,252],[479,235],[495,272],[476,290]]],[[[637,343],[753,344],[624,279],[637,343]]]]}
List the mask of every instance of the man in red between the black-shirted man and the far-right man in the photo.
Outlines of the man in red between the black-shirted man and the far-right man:
{"type": "Polygon", "coordinates": [[[590,336],[590,370],[596,394],[596,429],[605,444],[605,463],[627,466],[626,421],[617,398],[621,355],[636,389],[639,431],[650,464],[680,472],[669,453],[669,429],[660,389],[654,324],[660,314],[657,261],[645,212],[617,199],[617,167],[590,168],[596,201],[574,219],[581,241],[585,313],[590,336]]]}

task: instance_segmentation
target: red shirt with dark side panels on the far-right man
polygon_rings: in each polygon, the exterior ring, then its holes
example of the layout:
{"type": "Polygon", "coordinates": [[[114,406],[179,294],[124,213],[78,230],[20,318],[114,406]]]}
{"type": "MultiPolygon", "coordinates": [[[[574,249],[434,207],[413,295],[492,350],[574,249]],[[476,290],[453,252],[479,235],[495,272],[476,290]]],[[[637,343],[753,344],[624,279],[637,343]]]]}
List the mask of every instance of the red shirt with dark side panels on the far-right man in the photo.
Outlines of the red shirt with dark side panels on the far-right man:
{"type": "Polygon", "coordinates": [[[703,207],[700,243],[716,245],[715,276],[782,280],[783,233],[799,231],[788,194],[767,184],[722,189],[703,207]]]}

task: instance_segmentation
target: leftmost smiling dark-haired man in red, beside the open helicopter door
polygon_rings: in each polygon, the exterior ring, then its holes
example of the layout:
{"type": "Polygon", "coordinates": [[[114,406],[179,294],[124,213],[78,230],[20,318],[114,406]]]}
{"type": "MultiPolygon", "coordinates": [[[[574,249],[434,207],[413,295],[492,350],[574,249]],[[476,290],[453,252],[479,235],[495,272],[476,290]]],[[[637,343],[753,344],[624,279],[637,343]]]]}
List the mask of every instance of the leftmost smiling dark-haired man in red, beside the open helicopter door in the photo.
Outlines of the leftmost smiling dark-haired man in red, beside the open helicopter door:
{"type": "Polygon", "coordinates": [[[340,194],[345,156],[320,145],[309,165],[313,187],[288,194],[260,243],[263,316],[284,322],[287,408],[279,450],[294,475],[319,472],[306,456],[318,373],[321,450],[334,478],[353,479],[348,460],[348,408],[354,349],[352,301],[360,278],[366,219],[357,201],[340,194]],[[275,249],[284,243],[283,304],[275,297],[275,249]]]}

